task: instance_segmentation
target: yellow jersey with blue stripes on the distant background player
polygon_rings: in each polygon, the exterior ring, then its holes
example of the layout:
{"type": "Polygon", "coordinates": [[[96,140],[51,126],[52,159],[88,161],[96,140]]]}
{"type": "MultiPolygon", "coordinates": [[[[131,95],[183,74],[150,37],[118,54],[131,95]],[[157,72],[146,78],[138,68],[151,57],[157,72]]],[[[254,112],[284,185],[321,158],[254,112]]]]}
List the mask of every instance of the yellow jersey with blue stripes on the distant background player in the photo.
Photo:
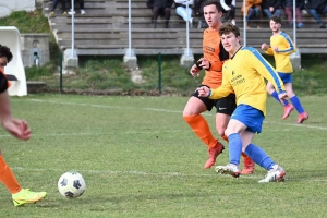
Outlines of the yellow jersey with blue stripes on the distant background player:
{"type": "Polygon", "coordinates": [[[270,48],[266,50],[266,53],[274,56],[276,71],[280,73],[292,73],[293,66],[290,60],[290,55],[296,51],[296,47],[291,40],[290,36],[283,32],[270,37],[270,48]],[[278,47],[278,51],[274,48],[278,47]]]}

